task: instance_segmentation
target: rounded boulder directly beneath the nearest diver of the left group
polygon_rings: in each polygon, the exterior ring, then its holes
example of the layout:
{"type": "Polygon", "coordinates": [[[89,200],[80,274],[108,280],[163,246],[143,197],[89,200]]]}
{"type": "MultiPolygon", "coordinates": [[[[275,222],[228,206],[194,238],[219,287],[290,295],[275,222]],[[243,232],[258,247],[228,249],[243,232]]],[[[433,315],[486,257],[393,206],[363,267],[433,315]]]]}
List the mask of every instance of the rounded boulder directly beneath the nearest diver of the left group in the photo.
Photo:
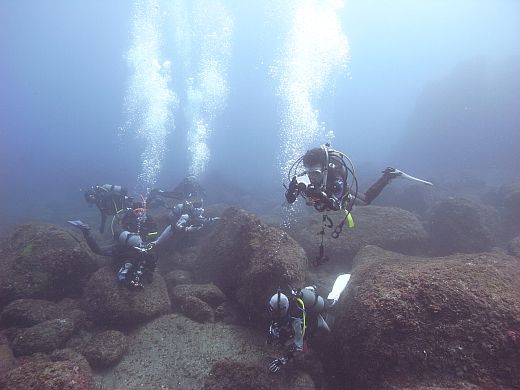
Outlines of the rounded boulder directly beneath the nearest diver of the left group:
{"type": "Polygon", "coordinates": [[[170,311],[170,298],[161,275],[143,289],[131,290],[118,284],[112,267],[100,268],[89,279],[83,307],[89,318],[100,325],[133,326],[170,311]]]}

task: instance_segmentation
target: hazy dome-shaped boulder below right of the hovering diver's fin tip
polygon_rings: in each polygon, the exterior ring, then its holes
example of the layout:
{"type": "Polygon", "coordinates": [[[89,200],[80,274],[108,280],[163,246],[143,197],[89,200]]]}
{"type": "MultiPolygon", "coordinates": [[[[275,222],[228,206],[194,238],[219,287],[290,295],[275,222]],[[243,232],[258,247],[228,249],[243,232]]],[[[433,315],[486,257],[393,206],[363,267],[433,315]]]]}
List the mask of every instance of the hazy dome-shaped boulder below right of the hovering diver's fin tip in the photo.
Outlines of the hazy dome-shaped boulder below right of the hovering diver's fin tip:
{"type": "Polygon", "coordinates": [[[430,232],[433,252],[477,253],[491,249],[498,240],[498,212],[464,198],[448,198],[432,207],[430,232]]]}

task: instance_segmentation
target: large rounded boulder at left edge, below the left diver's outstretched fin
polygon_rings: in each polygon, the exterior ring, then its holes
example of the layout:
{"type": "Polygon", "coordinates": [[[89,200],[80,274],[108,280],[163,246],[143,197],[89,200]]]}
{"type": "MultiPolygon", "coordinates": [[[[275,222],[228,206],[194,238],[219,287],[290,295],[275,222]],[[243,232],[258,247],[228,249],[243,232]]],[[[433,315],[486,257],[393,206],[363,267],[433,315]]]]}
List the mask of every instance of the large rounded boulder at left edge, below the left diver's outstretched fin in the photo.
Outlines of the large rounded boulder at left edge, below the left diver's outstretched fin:
{"type": "Polygon", "coordinates": [[[20,225],[0,246],[0,309],[19,298],[79,295],[96,270],[81,239],[58,226],[20,225]]]}

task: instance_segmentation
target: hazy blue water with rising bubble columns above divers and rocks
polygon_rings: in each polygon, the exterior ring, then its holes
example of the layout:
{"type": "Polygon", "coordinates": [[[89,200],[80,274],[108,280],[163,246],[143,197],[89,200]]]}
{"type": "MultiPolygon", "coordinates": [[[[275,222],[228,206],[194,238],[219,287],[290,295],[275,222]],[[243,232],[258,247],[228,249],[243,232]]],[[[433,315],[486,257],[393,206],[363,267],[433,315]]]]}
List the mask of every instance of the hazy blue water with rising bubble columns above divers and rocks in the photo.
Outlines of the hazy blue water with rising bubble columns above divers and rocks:
{"type": "Polygon", "coordinates": [[[189,173],[280,204],[327,141],[367,175],[500,185],[518,37],[514,0],[1,1],[0,231],[91,214],[93,184],[189,173]]]}

